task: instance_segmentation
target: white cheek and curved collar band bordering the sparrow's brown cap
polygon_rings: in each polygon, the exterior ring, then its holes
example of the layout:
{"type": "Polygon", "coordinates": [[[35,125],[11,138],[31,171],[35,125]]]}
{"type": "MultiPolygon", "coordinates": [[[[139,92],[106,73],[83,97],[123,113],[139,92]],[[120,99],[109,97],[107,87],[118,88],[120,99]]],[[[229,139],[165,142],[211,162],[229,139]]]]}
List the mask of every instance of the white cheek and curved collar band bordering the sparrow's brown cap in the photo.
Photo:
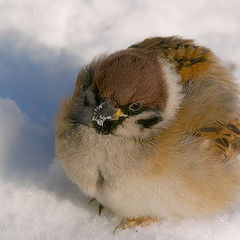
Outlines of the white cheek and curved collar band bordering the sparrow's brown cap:
{"type": "Polygon", "coordinates": [[[183,99],[181,76],[166,60],[159,59],[159,61],[163,69],[168,90],[166,108],[162,112],[153,110],[126,119],[122,125],[117,128],[116,135],[139,138],[151,137],[161,132],[163,128],[168,127],[175,119],[183,99]],[[155,117],[158,117],[159,119],[156,124],[153,122],[154,124],[152,124],[152,126],[149,124],[149,127],[146,127],[147,125],[144,127],[144,124],[141,125],[138,123],[138,121],[141,121],[142,123],[144,123],[144,121],[147,122],[148,120],[155,121],[153,119],[155,117]]]}

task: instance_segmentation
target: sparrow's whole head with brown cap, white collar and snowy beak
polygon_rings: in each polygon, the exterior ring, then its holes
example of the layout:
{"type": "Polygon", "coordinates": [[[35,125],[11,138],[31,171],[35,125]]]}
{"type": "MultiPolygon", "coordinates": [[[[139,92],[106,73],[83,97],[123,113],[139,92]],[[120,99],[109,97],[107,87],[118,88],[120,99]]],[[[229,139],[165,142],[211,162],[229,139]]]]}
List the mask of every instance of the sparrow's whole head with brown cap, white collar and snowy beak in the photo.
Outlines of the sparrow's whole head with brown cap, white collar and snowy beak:
{"type": "Polygon", "coordinates": [[[146,50],[117,52],[79,76],[77,85],[89,83],[76,86],[72,116],[99,134],[150,137],[168,126],[181,100],[178,74],[146,50]]]}

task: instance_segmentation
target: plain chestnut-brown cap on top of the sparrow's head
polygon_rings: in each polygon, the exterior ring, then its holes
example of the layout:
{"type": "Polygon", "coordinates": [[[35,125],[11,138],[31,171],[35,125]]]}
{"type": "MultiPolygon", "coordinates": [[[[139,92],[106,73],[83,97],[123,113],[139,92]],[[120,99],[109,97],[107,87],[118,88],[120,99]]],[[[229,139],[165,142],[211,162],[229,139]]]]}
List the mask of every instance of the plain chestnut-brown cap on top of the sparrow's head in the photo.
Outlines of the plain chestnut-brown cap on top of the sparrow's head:
{"type": "Polygon", "coordinates": [[[146,107],[164,109],[167,86],[156,55],[142,49],[119,51],[106,57],[94,74],[100,97],[127,105],[141,102],[146,107]]]}

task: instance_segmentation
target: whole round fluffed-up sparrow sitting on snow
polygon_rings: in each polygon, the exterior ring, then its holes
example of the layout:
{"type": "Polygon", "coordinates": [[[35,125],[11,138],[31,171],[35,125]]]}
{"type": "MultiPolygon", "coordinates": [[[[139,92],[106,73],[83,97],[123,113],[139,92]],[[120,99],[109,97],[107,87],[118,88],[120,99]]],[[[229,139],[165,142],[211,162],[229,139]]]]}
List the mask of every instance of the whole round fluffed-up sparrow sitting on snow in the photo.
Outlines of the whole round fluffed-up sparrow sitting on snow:
{"type": "Polygon", "coordinates": [[[148,38],[82,68],[56,154],[123,228],[212,216],[239,197],[239,112],[238,85],[210,49],[148,38]]]}

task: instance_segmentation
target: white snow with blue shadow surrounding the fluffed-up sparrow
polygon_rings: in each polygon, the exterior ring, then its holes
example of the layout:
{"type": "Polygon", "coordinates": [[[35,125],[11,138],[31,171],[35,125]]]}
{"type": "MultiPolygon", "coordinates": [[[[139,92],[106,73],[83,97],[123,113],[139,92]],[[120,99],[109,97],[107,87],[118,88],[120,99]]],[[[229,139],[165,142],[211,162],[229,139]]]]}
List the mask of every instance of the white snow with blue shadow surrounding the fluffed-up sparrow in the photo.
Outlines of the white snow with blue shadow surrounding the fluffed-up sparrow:
{"type": "Polygon", "coordinates": [[[240,203],[214,218],[119,230],[54,156],[54,119],[95,55],[149,36],[213,49],[240,78],[237,0],[0,0],[0,239],[239,240],[240,203]]]}

